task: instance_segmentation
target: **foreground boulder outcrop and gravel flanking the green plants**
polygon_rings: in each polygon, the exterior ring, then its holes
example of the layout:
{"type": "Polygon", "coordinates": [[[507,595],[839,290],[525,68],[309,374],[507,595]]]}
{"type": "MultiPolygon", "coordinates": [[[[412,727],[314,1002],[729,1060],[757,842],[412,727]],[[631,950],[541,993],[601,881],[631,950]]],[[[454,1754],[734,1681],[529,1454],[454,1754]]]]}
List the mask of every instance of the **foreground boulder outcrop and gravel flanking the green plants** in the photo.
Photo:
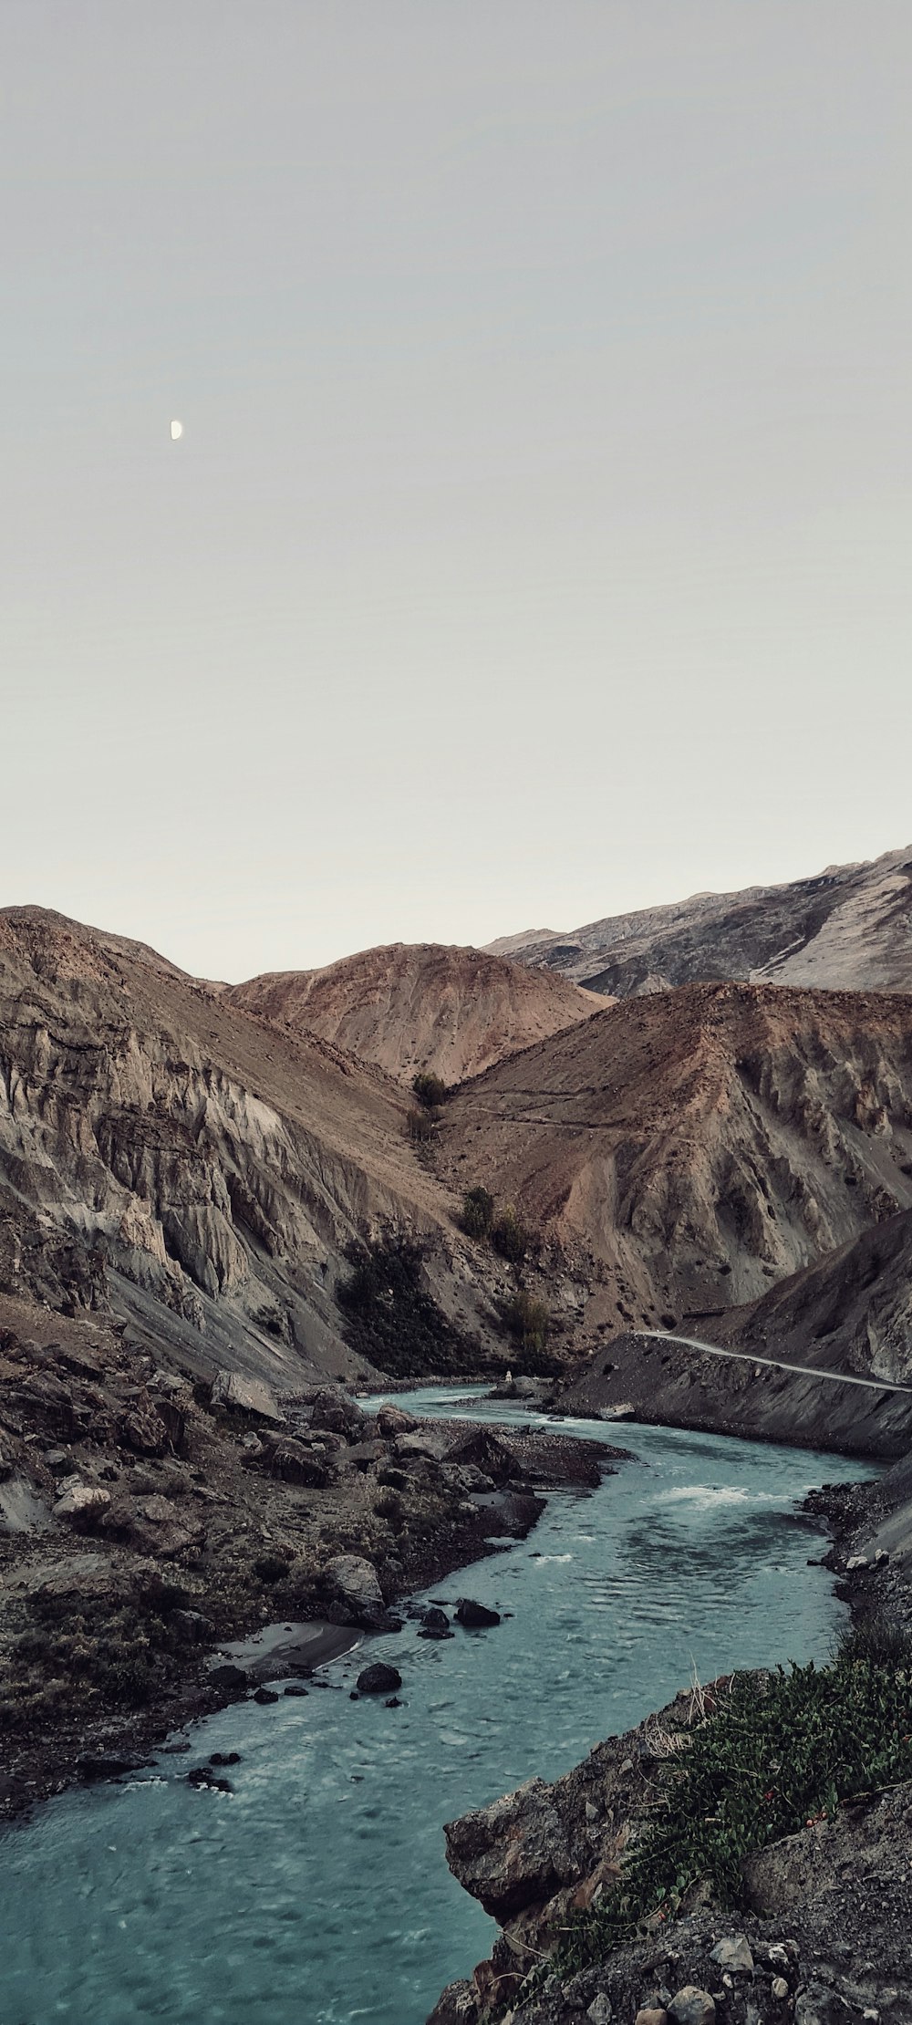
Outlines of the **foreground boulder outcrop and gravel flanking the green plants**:
{"type": "Polygon", "coordinates": [[[428,2025],[851,2025],[912,2019],[912,1784],[865,1794],[744,1865],[742,1912],[655,1914],[649,1932],[523,2001],[574,1916],[618,1879],[657,1802],[655,1772],[699,1709],[691,1693],[446,1829],[450,1869],[501,1922],[492,1956],[428,2025]]]}

